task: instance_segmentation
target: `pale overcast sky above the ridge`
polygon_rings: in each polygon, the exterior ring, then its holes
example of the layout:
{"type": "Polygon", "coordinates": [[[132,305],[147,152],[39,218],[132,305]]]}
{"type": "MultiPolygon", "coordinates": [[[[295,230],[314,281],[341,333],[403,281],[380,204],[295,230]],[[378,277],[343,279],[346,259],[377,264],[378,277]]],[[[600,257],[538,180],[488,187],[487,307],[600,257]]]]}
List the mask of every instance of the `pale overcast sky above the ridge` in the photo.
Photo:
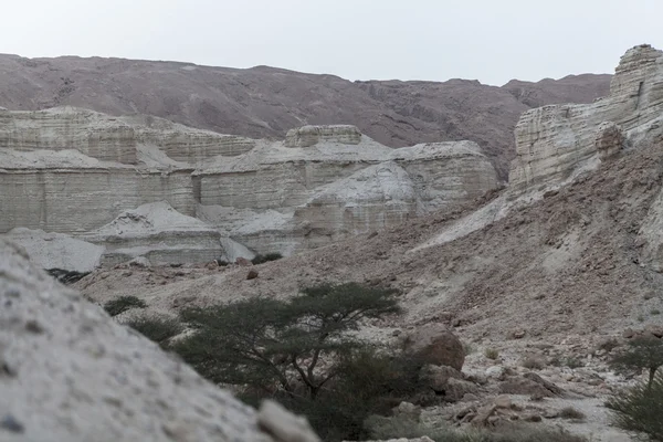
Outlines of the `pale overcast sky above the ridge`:
{"type": "Polygon", "coordinates": [[[662,18],[663,0],[22,0],[2,4],[0,53],[502,85],[612,73],[663,49],[662,18]]]}

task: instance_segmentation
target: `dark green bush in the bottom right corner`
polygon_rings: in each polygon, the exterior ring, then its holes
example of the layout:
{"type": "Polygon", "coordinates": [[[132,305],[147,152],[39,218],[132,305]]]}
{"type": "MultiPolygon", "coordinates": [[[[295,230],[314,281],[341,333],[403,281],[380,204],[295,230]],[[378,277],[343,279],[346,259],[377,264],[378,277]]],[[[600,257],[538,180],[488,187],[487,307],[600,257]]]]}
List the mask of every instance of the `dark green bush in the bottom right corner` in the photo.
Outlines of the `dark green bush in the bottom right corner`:
{"type": "Polygon", "coordinates": [[[663,441],[663,376],[615,394],[606,407],[612,410],[617,427],[663,441]]]}

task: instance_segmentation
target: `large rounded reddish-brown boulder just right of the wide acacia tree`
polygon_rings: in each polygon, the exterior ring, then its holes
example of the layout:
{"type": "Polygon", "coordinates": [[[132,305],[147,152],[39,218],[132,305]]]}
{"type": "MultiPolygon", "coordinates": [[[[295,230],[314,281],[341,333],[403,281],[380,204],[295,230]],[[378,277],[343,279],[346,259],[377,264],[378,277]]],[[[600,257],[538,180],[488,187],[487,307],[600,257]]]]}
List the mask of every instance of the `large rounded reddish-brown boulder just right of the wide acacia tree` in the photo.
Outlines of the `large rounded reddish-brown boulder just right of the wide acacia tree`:
{"type": "Polygon", "coordinates": [[[404,350],[425,364],[463,369],[465,349],[461,340],[444,326],[428,324],[409,334],[404,350]]]}

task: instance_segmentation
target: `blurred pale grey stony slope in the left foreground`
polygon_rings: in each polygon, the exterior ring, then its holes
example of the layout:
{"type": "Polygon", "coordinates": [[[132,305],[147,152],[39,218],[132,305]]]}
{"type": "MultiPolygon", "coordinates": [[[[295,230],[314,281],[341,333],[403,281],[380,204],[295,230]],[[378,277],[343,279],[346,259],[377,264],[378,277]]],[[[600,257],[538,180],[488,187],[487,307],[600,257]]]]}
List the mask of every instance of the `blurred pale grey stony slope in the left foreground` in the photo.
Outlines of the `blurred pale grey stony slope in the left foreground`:
{"type": "Polygon", "coordinates": [[[271,441],[308,425],[255,412],[0,240],[0,440],[271,441]]]}

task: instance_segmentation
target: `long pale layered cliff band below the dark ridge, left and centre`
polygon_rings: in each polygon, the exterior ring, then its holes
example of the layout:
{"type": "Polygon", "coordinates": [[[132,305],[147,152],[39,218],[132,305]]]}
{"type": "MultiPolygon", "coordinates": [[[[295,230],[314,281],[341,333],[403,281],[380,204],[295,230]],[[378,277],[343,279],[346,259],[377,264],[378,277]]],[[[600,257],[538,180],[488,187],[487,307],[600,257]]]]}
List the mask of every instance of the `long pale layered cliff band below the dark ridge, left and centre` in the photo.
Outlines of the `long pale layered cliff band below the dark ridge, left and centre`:
{"type": "Polygon", "coordinates": [[[499,185],[470,141],[392,149],[354,126],[253,140],[75,108],[0,110],[0,233],[74,235],[104,264],[290,254],[499,185]]]}

